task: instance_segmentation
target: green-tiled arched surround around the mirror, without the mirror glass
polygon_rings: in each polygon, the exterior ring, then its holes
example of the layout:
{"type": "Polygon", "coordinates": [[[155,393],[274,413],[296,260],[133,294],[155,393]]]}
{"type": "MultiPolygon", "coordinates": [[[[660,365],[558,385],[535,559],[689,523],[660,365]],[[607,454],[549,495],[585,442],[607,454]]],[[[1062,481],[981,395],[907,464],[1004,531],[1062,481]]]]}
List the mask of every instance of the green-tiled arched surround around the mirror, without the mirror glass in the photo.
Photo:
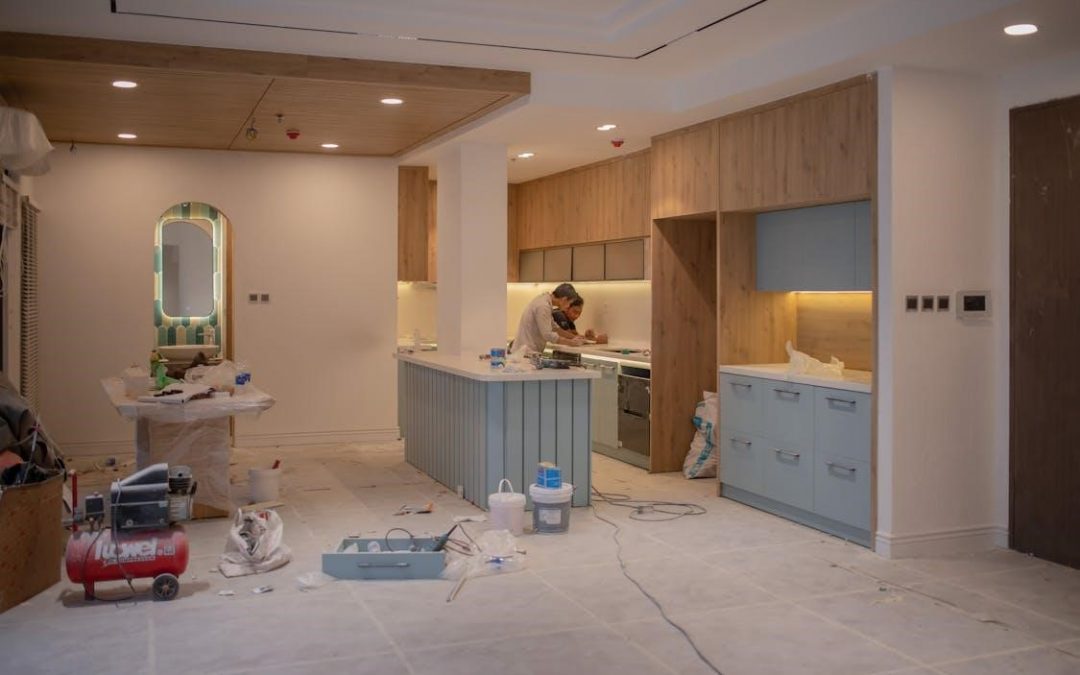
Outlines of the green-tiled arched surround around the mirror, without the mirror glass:
{"type": "Polygon", "coordinates": [[[206,326],[214,326],[214,341],[219,348],[219,353],[226,353],[225,303],[228,296],[228,279],[225,247],[228,230],[229,219],[214,206],[201,202],[176,204],[158,218],[153,229],[153,325],[157,345],[202,345],[203,330],[206,326]],[[162,309],[162,228],[177,220],[202,220],[214,233],[214,309],[207,316],[170,316],[162,309]]]}

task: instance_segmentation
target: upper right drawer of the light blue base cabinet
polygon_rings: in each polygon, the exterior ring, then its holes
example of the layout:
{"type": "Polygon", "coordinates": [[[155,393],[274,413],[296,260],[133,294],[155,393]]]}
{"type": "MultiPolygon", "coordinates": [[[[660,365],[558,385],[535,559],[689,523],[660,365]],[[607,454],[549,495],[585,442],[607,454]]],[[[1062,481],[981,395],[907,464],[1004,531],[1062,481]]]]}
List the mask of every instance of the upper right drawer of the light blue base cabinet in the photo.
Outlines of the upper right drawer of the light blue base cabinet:
{"type": "Polygon", "coordinates": [[[814,390],[814,448],[849,459],[870,460],[870,396],[841,389],[814,390]]]}

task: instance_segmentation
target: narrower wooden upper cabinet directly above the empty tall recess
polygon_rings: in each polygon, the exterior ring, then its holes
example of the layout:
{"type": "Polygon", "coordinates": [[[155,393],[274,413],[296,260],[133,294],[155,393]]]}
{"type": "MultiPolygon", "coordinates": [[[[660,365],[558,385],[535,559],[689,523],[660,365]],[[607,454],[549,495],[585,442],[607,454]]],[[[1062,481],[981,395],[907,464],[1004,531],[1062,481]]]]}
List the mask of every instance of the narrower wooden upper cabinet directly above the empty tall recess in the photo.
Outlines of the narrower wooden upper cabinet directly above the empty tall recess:
{"type": "Polygon", "coordinates": [[[652,138],[653,218],[716,212],[718,129],[712,120],[652,138]]]}

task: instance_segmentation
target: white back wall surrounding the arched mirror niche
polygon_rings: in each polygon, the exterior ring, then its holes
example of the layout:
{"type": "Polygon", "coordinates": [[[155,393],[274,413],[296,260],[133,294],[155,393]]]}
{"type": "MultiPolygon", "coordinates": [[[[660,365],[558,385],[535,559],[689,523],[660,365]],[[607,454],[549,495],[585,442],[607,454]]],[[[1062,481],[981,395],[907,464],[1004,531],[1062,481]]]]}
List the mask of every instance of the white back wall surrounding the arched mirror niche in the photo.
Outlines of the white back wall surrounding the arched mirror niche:
{"type": "Polygon", "coordinates": [[[66,451],[131,447],[133,426],[98,379],[149,354],[153,225],[184,201],[232,225],[234,353],[278,401],[259,419],[238,418],[238,441],[394,436],[391,161],[91,145],[51,160],[33,185],[42,413],[66,451]],[[249,292],[271,302],[249,305],[249,292]]]}

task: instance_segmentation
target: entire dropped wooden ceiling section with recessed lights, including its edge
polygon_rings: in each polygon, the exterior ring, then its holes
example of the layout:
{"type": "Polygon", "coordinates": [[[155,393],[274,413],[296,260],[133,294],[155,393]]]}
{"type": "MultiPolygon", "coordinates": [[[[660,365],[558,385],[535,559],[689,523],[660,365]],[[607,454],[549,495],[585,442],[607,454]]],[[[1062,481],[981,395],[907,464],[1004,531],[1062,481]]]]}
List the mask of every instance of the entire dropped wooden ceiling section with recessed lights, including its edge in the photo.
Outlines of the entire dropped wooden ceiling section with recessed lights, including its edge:
{"type": "Polygon", "coordinates": [[[529,89],[529,73],[511,70],[0,32],[0,96],[36,113],[56,143],[325,152],[320,144],[333,141],[342,154],[386,157],[529,89]],[[405,105],[380,104],[387,96],[405,105]],[[253,118],[259,135],[248,140],[253,118]]]}

